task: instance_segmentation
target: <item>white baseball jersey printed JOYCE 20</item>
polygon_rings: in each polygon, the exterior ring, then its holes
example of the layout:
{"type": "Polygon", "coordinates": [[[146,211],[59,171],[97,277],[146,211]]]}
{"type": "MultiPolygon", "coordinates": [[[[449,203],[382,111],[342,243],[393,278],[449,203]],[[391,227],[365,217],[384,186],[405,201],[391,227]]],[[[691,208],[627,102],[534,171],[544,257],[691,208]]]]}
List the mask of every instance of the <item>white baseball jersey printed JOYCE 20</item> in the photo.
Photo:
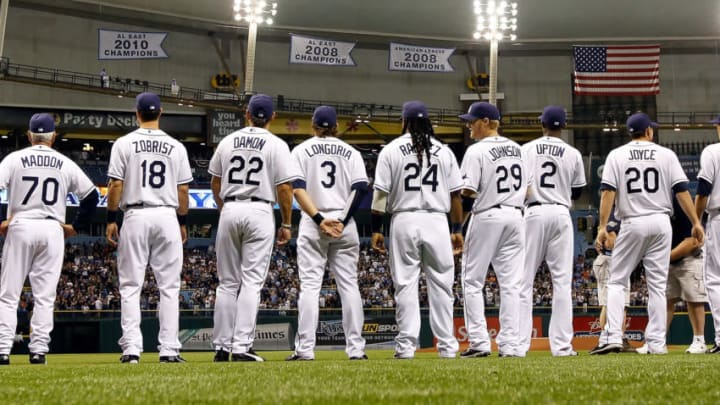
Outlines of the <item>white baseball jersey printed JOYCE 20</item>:
{"type": "Polygon", "coordinates": [[[672,187],[687,182],[672,150],[648,141],[631,141],[610,152],[602,182],[617,190],[615,216],[619,220],[653,214],[672,214],[672,187]]]}

